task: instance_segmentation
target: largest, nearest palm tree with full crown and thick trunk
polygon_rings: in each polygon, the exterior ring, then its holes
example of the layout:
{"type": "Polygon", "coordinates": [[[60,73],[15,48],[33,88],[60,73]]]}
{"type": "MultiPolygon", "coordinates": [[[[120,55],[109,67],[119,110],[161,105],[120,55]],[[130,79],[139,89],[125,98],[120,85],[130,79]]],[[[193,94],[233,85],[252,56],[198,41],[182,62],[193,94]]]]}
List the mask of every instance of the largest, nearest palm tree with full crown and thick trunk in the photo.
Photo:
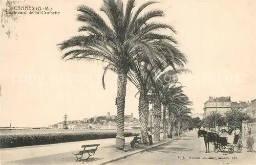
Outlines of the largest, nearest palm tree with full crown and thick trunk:
{"type": "MultiPolygon", "coordinates": [[[[123,8],[121,0],[103,0],[100,11],[106,14],[111,22],[105,20],[92,8],[86,5],[77,7],[77,21],[84,23],[78,32],[87,32],[73,36],[57,44],[60,51],[72,49],[62,55],[66,60],[102,61],[104,67],[102,85],[105,88],[104,76],[107,69],[117,74],[117,136],[116,148],[124,149],[124,105],[126,95],[127,73],[142,61],[155,63],[166,62],[174,66],[182,65],[185,56],[170,43],[177,43],[174,37],[155,33],[155,30],[169,29],[176,33],[172,26],[159,22],[148,22],[151,18],[163,17],[164,11],[153,9],[140,16],[144,9],[157,2],[149,1],[141,5],[132,15],[135,0],[129,0],[123,8]],[[165,42],[163,42],[165,41],[165,42]],[[167,42],[168,41],[168,42],[167,42]],[[159,54],[158,48],[164,50],[159,54]]],[[[159,63],[159,65],[161,65],[159,63]]]]}

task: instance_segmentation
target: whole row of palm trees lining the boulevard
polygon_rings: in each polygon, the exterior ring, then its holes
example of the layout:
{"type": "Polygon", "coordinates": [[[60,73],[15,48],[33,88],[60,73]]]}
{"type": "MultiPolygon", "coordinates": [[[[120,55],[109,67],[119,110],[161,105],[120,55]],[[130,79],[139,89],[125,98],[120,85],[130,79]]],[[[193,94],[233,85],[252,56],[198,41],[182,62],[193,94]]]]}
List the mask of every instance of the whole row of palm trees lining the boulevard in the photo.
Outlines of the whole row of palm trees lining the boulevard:
{"type": "MultiPolygon", "coordinates": [[[[154,139],[160,141],[160,124],[163,116],[164,132],[169,135],[173,126],[190,122],[192,103],[179,85],[177,75],[189,73],[184,68],[186,56],[177,47],[172,35],[157,33],[159,30],[177,31],[167,23],[149,21],[164,16],[164,11],[145,8],[157,2],[148,1],[135,8],[135,0],[128,0],[124,9],[121,0],[103,0],[100,7],[110,25],[92,8],[77,7],[76,20],[83,23],[78,29],[80,35],[57,44],[63,53],[62,59],[101,61],[103,67],[102,85],[107,70],[116,73],[117,78],[117,136],[116,148],[124,149],[124,109],[127,80],[138,89],[139,118],[142,142],[147,144],[148,109],[153,104],[154,139]],[[163,107],[163,108],[162,108],[163,107]],[[168,120],[166,121],[166,111],[168,120]],[[163,112],[163,113],[162,113],[163,112]],[[167,127],[166,127],[167,126],[167,127]]],[[[166,138],[166,134],[164,134],[166,138]]]]}

